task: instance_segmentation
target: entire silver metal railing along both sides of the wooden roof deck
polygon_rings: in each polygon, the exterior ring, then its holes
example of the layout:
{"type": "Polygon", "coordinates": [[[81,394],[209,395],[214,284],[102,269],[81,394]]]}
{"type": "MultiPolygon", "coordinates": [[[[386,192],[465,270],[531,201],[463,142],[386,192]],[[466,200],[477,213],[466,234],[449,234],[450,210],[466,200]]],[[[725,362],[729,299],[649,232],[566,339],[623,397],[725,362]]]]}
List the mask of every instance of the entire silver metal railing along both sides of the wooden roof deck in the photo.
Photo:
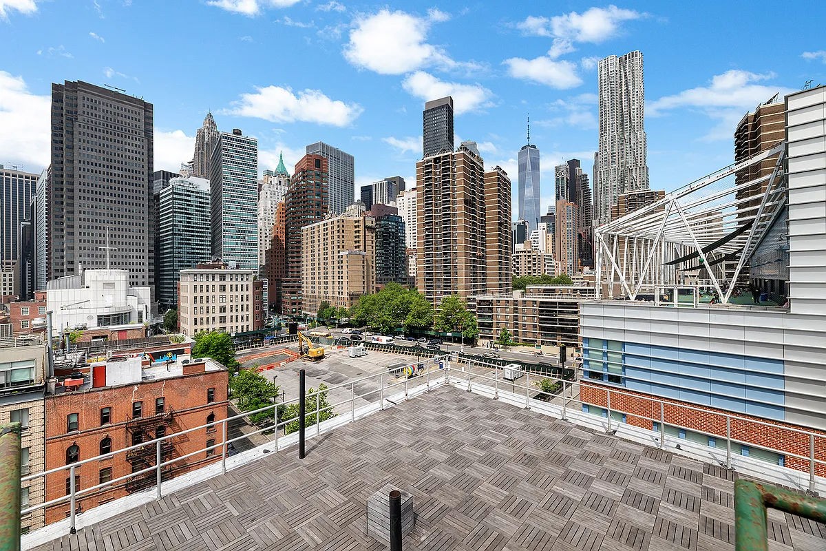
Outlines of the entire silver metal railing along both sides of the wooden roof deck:
{"type": "MultiPolygon", "coordinates": [[[[527,409],[539,407],[544,413],[555,416],[562,420],[573,420],[586,425],[601,425],[608,433],[614,433],[620,430],[624,437],[633,437],[630,430],[638,430],[638,434],[643,434],[643,444],[653,444],[661,449],[667,447],[667,440],[671,444],[672,449],[679,449],[676,444],[682,444],[688,447],[691,441],[686,439],[678,439],[676,436],[667,435],[666,426],[674,429],[683,429],[695,433],[701,433],[714,437],[715,439],[724,439],[720,444],[725,445],[725,448],[706,448],[704,457],[706,460],[717,462],[726,468],[743,468],[746,465],[744,462],[751,461],[752,466],[757,463],[756,459],[742,458],[736,462],[734,460],[733,446],[745,445],[759,447],[767,451],[784,456],[787,459],[795,458],[798,460],[798,467],[801,465],[808,466],[808,473],[800,469],[785,468],[782,469],[784,473],[797,473],[800,475],[800,480],[805,481],[808,477],[809,490],[814,491],[817,482],[817,471],[826,471],[826,459],[823,454],[816,455],[816,449],[826,449],[826,435],[814,433],[803,429],[798,429],[789,425],[781,425],[772,423],[770,421],[762,421],[752,419],[746,416],[738,416],[733,413],[714,412],[700,407],[693,407],[690,404],[677,401],[669,401],[667,399],[657,397],[647,397],[636,392],[628,392],[619,388],[608,387],[603,384],[590,383],[586,381],[569,381],[565,376],[554,377],[550,373],[531,373],[530,371],[520,370],[513,372],[506,369],[497,363],[489,362],[486,359],[471,359],[468,357],[459,358],[458,354],[443,354],[432,359],[422,359],[415,363],[416,369],[411,370],[411,364],[400,366],[398,368],[388,368],[387,372],[373,373],[371,375],[357,378],[349,382],[344,382],[339,385],[327,387],[325,390],[316,389],[313,392],[306,394],[306,416],[307,422],[306,435],[308,438],[320,435],[329,430],[333,430],[336,426],[344,423],[353,422],[363,416],[372,413],[373,411],[381,411],[389,406],[395,406],[399,401],[404,401],[408,397],[420,394],[420,392],[427,392],[433,387],[449,384],[455,387],[460,387],[468,392],[477,392],[482,396],[491,397],[494,400],[503,399],[510,403],[515,403],[524,406],[527,409]],[[509,373],[510,372],[510,373],[509,373]],[[506,375],[509,378],[506,378],[506,375]],[[514,378],[514,375],[519,375],[514,378]],[[374,383],[374,388],[364,392],[365,386],[371,382],[374,383]],[[358,390],[358,393],[357,393],[358,390]],[[599,392],[599,399],[582,398],[582,392],[593,391],[599,392]],[[320,406],[322,397],[326,394],[328,406],[320,406]],[[338,397],[344,394],[346,398],[339,399],[338,397]],[[605,400],[602,401],[602,397],[605,400]],[[623,404],[629,403],[631,400],[642,401],[638,402],[637,406],[624,407],[623,404]],[[357,403],[363,402],[363,403],[357,403]],[[377,403],[376,403],[377,402],[377,403]],[[641,407],[639,403],[647,406],[641,407]],[[601,408],[600,415],[590,415],[583,412],[583,406],[595,406],[601,408]],[[683,426],[676,421],[676,416],[667,416],[669,408],[680,408],[685,411],[696,411],[704,414],[703,418],[709,419],[714,417],[718,423],[717,426],[724,426],[725,429],[717,429],[709,421],[706,430],[702,430],[695,426],[683,426]],[[633,409],[634,411],[630,411],[633,409]],[[648,414],[646,413],[647,410],[648,414]],[[334,416],[328,420],[324,420],[326,412],[332,412],[334,416]],[[653,412],[653,415],[651,413],[653,412]],[[616,418],[619,416],[619,419],[616,418]],[[625,416],[634,417],[637,425],[631,425],[625,422],[625,416]],[[650,423],[657,423],[657,430],[641,426],[640,421],[650,423]],[[747,425],[757,427],[753,432],[757,435],[761,429],[777,429],[781,427],[782,430],[788,431],[790,435],[794,435],[798,439],[805,439],[808,441],[808,454],[797,454],[790,452],[788,449],[777,449],[771,445],[757,444],[748,439],[737,438],[733,435],[733,427],[740,425],[747,425]],[[315,425],[315,430],[312,426],[315,425]],[[735,465],[736,463],[736,465],[735,465]]],[[[567,373],[566,373],[567,375],[567,373]]],[[[292,430],[287,432],[287,425],[297,424],[299,420],[298,415],[291,416],[288,419],[279,418],[279,411],[282,408],[290,406],[298,402],[298,398],[285,400],[280,403],[273,403],[269,406],[262,407],[255,411],[245,411],[237,416],[230,416],[226,419],[216,420],[211,423],[206,423],[188,430],[182,430],[170,435],[165,435],[162,438],[154,439],[148,442],[136,444],[124,449],[118,449],[110,454],[104,454],[94,458],[83,459],[77,463],[65,465],[59,468],[53,468],[43,473],[30,474],[21,477],[22,482],[27,482],[39,478],[45,480],[50,475],[62,473],[65,476],[68,473],[67,483],[69,484],[69,493],[66,496],[59,496],[55,499],[50,499],[44,503],[36,504],[27,507],[21,511],[22,515],[26,515],[33,511],[40,509],[48,509],[50,507],[69,504],[69,526],[70,530],[74,531],[77,523],[78,501],[83,500],[89,496],[96,495],[98,492],[104,492],[115,488],[118,484],[126,485],[130,482],[135,489],[145,489],[146,487],[153,487],[155,498],[159,499],[164,494],[162,482],[170,478],[173,471],[191,472],[194,468],[198,468],[197,463],[217,463],[221,462],[220,473],[227,471],[227,459],[230,457],[230,444],[233,444],[242,439],[249,439],[254,435],[268,435],[268,438],[273,445],[275,452],[280,451],[285,445],[292,445],[295,440],[290,436],[292,430]],[[263,422],[259,423],[258,428],[249,433],[237,436],[235,438],[228,438],[228,430],[230,423],[236,420],[243,420],[255,414],[265,414],[263,422]],[[173,439],[181,437],[188,437],[197,431],[205,430],[207,438],[214,437],[215,443],[196,451],[181,454],[177,457],[170,457],[169,449],[174,445],[173,439]],[[220,433],[218,431],[221,431],[220,433]],[[220,439],[219,439],[220,435],[220,439]],[[284,439],[287,439],[285,442],[284,439]],[[135,473],[129,473],[122,477],[114,478],[105,483],[97,484],[92,487],[78,488],[75,486],[75,476],[78,469],[88,463],[97,464],[103,459],[114,458],[118,455],[135,454],[135,450],[140,449],[140,454],[145,454],[145,448],[154,448],[154,464],[140,469],[135,473]],[[183,463],[188,459],[197,458],[197,463],[192,465],[190,463],[183,463]],[[151,483],[146,481],[154,478],[151,483]]],[[[699,416],[697,416],[699,419],[699,416]]],[[[696,444],[700,446],[700,444],[696,444]]],[[[782,444],[778,444],[782,445],[782,444]]],[[[696,451],[696,450],[694,450],[696,451]]],[[[255,458],[265,457],[259,455],[255,458]]],[[[250,459],[252,460],[252,459],[250,459]]],[[[763,463],[769,465],[769,463],[763,463]]],[[[214,476],[212,473],[211,476],[214,476]]],[[[61,477],[62,478],[62,477],[61,477]]],[[[786,479],[786,484],[797,483],[791,480],[791,477],[786,479]]]]}

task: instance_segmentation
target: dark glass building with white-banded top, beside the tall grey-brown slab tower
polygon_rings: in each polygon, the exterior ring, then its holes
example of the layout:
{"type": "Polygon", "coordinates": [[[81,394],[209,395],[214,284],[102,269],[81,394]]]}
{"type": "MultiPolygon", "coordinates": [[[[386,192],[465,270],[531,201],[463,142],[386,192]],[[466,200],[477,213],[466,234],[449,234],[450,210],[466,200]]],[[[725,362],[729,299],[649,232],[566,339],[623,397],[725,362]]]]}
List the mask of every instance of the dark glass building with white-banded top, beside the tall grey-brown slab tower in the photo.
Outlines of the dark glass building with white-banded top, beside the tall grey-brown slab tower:
{"type": "Polygon", "coordinates": [[[155,296],[164,308],[178,306],[184,269],[210,259],[210,185],[205,178],[172,178],[157,193],[158,242],[155,296]]]}

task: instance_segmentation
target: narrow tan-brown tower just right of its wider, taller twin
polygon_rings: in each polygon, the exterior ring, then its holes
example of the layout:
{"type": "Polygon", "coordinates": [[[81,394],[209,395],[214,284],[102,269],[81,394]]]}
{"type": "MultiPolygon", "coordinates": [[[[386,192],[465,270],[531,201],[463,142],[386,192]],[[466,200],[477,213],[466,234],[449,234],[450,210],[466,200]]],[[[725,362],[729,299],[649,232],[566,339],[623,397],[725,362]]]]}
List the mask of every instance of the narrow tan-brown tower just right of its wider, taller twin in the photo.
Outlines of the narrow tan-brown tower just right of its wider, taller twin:
{"type": "Polygon", "coordinates": [[[510,292],[510,178],[498,166],[485,173],[485,237],[487,292],[510,292]]]}

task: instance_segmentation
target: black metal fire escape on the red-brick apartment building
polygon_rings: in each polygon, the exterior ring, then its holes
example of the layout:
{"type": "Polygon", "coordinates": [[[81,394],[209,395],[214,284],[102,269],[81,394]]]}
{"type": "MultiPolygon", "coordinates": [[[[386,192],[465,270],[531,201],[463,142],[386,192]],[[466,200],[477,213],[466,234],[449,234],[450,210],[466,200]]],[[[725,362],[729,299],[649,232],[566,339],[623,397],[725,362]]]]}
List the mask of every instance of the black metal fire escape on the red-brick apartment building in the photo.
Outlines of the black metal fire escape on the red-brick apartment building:
{"type": "MultiPolygon", "coordinates": [[[[157,464],[157,443],[150,442],[157,438],[158,430],[163,428],[163,434],[168,434],[169,425],[173,419],[172,408],[164,408],[162,411],[157,411],[154,415],[132,417],[126,421],[126,431],[131,434],[132,442],[139,444],[140,442],[149,442],[140,448],[131,449],[126,453],[126,460],[132,465],[132,472],[142,471],[145,468],[154,467],[157,464]]],[[[174,448],[171,439],[166,439],[160,444],[160,460],[161,463],[169,461],[174,457],[174,448]]],[[[167,465],[161,468],[161,480],[169,480],[172,477],[173,465],[167,465]]],[[[153,471],[135,475],[126,481],[126,492],[140,492],[148,487],[154,486],[157,482],[157,474],[153,471]]]]}

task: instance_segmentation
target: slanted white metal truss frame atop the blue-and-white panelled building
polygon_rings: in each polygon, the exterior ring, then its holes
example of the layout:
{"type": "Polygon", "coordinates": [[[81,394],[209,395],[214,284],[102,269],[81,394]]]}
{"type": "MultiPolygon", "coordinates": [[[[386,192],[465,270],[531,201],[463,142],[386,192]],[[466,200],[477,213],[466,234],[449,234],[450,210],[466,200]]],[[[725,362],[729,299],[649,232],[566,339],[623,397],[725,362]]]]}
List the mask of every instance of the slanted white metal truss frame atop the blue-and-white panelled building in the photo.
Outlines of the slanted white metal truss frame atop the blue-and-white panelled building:
{"type": "Polygon", "coordinates": [[[614,298],[619,286],[622,296],[634,301],[643,287],[674,287],[690,278],[695,287],[702,281],[719,302],[728,303],[743,266],[786,206],[785,159],[782,141],[598,226],[596,297],[606,290],[614,298]],[[771,174],[733,183],[735,173],[774,155],[771,174]],[[764,184],[762,194],[742,194],[764,184]]]}

